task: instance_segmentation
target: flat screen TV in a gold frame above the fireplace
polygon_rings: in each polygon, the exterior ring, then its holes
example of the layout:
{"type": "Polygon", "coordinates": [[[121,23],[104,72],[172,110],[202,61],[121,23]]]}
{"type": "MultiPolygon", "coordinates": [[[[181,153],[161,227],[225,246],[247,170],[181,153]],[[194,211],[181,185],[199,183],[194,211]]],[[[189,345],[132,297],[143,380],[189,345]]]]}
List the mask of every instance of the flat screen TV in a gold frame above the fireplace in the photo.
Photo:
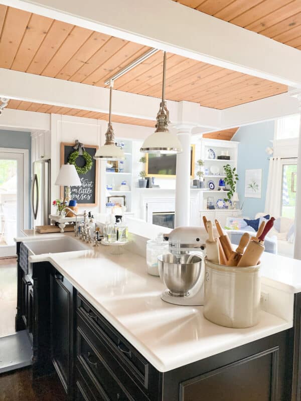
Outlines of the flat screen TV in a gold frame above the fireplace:
{"type": "MultiPolygon", "coordinates": [[[[195,145],[191,145],[190,176],[194,177],[195,145]]],[[[147,177],[174,178],[176,176],[177,154],[146,153],[145,173],[147,177]]]]}

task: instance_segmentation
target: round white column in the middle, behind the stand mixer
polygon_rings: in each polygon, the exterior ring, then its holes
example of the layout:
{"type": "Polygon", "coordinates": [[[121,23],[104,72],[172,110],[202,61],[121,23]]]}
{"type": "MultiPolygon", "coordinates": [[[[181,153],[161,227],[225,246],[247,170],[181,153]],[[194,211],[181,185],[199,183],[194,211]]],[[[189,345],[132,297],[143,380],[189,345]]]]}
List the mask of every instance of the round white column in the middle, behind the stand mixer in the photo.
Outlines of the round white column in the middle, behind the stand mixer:
{"type": "Polygon", "coordinates": [[[192,126],[178,125],[182,153],[177,154],[175,228],[190,225],[190,137],[192,126]]]}

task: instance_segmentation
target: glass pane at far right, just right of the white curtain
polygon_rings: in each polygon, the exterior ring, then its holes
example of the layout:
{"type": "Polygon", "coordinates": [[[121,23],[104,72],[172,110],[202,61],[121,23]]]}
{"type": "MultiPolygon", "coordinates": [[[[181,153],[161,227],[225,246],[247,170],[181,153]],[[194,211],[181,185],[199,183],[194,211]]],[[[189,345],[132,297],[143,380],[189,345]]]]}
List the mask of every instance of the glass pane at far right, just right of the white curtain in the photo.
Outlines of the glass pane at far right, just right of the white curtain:
{"type": "Polygon", "coordinates": [[[282,169],[281,216],[294,219],[297,165],[284,164],[282,169]]]}

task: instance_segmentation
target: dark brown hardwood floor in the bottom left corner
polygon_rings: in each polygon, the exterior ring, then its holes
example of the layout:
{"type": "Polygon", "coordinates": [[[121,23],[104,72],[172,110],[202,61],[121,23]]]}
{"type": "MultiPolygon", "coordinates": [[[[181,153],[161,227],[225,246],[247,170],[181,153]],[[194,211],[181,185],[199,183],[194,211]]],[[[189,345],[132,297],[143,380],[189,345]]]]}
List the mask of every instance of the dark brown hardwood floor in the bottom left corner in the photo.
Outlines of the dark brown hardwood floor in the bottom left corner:
{"type": "Polygon", "coordinates": [[[57,375],[32,381],[31,368],[0,375],[0,401],[67,401],[57,375]]]}

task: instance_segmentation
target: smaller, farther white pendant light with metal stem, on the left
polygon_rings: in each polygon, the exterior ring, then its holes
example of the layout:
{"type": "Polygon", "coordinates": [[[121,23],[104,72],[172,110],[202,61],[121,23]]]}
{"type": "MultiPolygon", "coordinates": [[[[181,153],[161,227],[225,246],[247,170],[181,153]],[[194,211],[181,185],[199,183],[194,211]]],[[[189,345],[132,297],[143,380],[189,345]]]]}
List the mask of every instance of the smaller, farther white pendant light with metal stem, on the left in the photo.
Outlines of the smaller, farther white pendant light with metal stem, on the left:
{"type": "Polygon", "coordinates": [[[115,134],[111,124],[112,111],[112,87],[113,81],[110,81],[110,108],[109,108],[109,123],[105,133],[105,144],[100,146],[95,153],[94,159],[99,160],[125,160],[124,152],[121,147],[115,143],[115,134]]]}

